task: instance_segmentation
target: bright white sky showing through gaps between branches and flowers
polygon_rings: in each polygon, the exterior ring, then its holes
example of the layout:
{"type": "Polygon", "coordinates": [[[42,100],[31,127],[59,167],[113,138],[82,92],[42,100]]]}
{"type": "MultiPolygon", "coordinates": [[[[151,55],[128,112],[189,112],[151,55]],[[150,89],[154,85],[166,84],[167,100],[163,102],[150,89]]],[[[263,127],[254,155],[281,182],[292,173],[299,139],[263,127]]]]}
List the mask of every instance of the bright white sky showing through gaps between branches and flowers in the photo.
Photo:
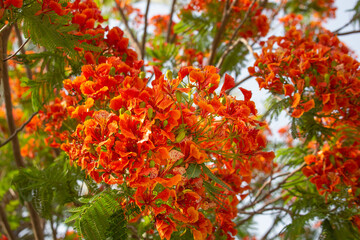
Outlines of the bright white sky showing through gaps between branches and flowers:
{"type": "MultiPolygon", "coordinates": [[[[150,9],[149,9],[149,19],[158,14],[169,14],[170,13],[170,0],[152,0],[150,9]],[[165,2],[165,3],[164,3],[165,2]],[[166,4],[166,2],[169,2],[166,4]]],[[[347,10],[352,9],[357,0],[336,0],[336,7],[338,8],[336,12],[336,18],[330,19],[324,26],[328,28],[331,31],[337,30],[344,24],[350,21],[350,19],[353,16],[353,12],[348,12],[347,10]]],[[[135,4],[135,7],[138,7],[141,9],[141,11],[145,12],[145,1],[139,2],[135,4]]],[[[110,25],[119,25],[118,22],[111,22],[110,25]]],[[[282,34],[282,26],[279,24],[275,24],[278,26],[276,29],[271,31],[271,35],[281,35],[282,34]]],[[[354,25],[350,25],[347,28],[343,29],[341,32],[347,32],[353,30],[354,25]]],[[[151,31],[151,28],[148,28],[149,31],[151,31]]],[[[142,31],[142,29],[140,29],[142,31]]],[[[357,56],[360,56],[360,33],[358,34],[351,34],[351,35],[345,35],[345,36],[339,36],[340,40],[343,41],[350,49],[352,49],[357,56]]],[[[258,51],[259,52],[259,51],[258,51]]],[[[359,59],[359,57],[357,58],[359,59]]],[[[254,62],[254,60],[249,61],[249,66],[254,62]]],[[[231,74],[230,74],[231,75],[231,74]]],[[[243,77],[246,77],[248,75],[248,71],[245,68],[242,72],[242,76],[239,77],[238,80],[242,79],[243,77]]],[[[251,90],[252,100],[255,102],[256,107],[259,111],[259,113],[264,113],[265,106],[264,102],[266,98],[269,96],[267,93],[267,90],[259,90],[259,86],[255,79],[248,80],[244,84],[241,85],[241,87],[251,90]]],[[[233,91],[233,95],[237,96],[238,98],[242,98],[242,94],[240,91],[233,91]]],[[[270,125],[270,128],[273,131],[274,136],[272,137],[272,140],[276,140],[278,138],[277,130],[281,127],[284,127],[288,124],[288,120],[283,116],[279,117],[279,120],[276,122],[273,122],[270,125]]],[[[267,232],[268,228],[272,224],[272,217],[261,215],[254,218],[255,222],[257,222],[257,228],[254,229],[252,232],[257,236],[262,236],[264,233],[267,232]]],[[[279,230],[281,230],[282,227],[280,227],[279,230]]]]}

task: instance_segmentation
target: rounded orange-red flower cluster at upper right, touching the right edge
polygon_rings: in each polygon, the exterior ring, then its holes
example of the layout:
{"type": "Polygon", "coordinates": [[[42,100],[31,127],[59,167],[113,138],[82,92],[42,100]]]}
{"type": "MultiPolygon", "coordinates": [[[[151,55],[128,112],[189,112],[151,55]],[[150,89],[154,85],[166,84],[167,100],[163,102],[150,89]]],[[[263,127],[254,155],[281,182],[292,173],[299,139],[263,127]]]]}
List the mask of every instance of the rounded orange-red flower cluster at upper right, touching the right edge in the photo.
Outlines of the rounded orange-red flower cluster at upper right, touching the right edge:
{"type": "Polygon", "coordinates": [[[254,67],[260,88],[285,95],[292,117],[318,106],[321,113],[342,121],[358,119],[359,63],[331,32],[312,26],[291,26],[284,37],[271,37],[254,67]]]}

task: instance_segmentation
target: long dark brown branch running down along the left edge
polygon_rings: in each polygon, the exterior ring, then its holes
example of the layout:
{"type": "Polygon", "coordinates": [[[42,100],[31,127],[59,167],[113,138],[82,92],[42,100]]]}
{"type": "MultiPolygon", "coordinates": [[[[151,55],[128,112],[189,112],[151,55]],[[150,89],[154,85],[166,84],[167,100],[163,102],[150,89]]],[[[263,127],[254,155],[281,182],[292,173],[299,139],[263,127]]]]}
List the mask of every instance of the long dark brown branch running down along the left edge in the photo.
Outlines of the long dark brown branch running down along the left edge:
{"type": "MultiPolygon", "coordinates": [[[[0,35],[0,58],[4,59],[6,57],[6,49],[7,43],[10,35],[11,27],[3,30],[0,35]]],[[[11,101],[11,89],[9,84],[9,73],[8,73],[8,65],[6,61],[0,63],[0,78],[4,87],[4,98],[5,98],[5,107],[6,107],[6,118],[8,122],[9,132],[12,135],[16,131],[15,120],[12,113],[13,105],[11,101]]],[[[20,144],[17,135],[15,135],[12,139],[12,149],[13,155],[15,159],[15,163],[18,168],[25,167],[25,163],[22,159],[20,153],[20,144]]],[[[34,232],[35,240],[43,240],[44,233],[42,229],[42,224],[39,215],[36,213],[34,207],[31,203],[25,202],[25,206],[27,207],[30,215],[31,226],[34,232]]]]}

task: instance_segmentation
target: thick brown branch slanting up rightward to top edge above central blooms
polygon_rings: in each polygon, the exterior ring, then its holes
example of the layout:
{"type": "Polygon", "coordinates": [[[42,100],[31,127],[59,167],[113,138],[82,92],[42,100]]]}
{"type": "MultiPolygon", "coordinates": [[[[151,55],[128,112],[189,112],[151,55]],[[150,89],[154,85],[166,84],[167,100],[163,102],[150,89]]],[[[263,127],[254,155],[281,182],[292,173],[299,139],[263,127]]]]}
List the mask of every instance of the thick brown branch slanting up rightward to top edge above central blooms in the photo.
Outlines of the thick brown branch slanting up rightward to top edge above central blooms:
{"type": "Polygon", "coordinates": [[[211,46],[211,49],[210,49],[210,56],[209,56],[209,59],[208,59],[206,65],[212,65],[212,63],[213,63],[213,61],[215,59],[217,47],[220,44],[221,37],[223,36],[223,34],[225,32],[226,24],[229,21],[231,11],[232,11],[232,9],[233,9],[233,7],[235,6],[236,3],[237,3],[237,0],[234,0],[232,2],[232,4],[229,6],[229,0],[226,1],[226,5],[224,7],[224,12],[223,12],[223,15],[222,15],[222,18],[221,18],[220,27],[219,27],[218,31],[216,32],[215,38],[214,38],[214,40],[212,42],[212,46],[211,46]]]}

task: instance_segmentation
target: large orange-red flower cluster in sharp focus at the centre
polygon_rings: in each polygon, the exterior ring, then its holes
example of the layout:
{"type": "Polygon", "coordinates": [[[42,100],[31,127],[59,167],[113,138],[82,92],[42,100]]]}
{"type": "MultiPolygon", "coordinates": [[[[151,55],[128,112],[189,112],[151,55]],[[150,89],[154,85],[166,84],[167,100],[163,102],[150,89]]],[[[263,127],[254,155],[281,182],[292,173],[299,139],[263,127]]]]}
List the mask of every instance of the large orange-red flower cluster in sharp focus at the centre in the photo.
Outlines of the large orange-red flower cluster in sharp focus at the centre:
{"type": "Polygon", "coordinates": [[[251,93],[241,89],[244,100],[226,95],[234,86],[227,75],[216,94],[217,72],[210,66],[182,68],[177,78],[156,72],[148,87],[140,70],[113,57],[64,81],[83,101],[67,107],[79,124],[62,149],[95,181],[130,187],[161,238],[185,227],[195,239],[214,231],[231,238],[252,171],[270,171],[274,154],[262,151],[263,123],[251,93]],[[214,225],[207,217],[213,212],[214,225]]]}

